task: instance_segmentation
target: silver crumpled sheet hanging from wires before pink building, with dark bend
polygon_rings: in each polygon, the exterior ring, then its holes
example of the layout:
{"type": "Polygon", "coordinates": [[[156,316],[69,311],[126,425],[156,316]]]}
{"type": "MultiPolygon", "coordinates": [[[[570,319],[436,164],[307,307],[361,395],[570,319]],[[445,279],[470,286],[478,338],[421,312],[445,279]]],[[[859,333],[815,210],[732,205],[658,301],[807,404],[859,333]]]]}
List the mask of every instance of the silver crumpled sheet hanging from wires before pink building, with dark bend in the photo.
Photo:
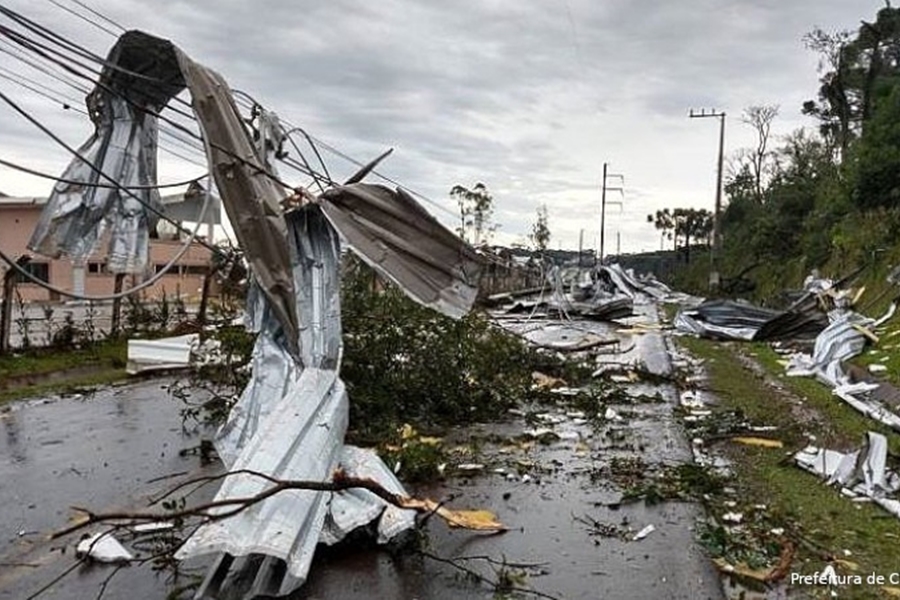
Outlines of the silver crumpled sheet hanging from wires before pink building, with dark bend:
{"type": "Polygon", "coordinates": [[[29,249],[82,262],[108,233],[109,270],[144,271],[149,231],[157,222],[157,213],[145,205],[162,210],[159,191],[145,187],[126,192],[109,186],[113,181],[124,188],[156,184],[153,113],[184,86],[171,52],[169,42],[137,31],[126,33],[113,46],[97,87],[87,98],[95,131],[78,150],[85,160],[76,157],[62,175],[76,183],[53,187],[29,249]]]}

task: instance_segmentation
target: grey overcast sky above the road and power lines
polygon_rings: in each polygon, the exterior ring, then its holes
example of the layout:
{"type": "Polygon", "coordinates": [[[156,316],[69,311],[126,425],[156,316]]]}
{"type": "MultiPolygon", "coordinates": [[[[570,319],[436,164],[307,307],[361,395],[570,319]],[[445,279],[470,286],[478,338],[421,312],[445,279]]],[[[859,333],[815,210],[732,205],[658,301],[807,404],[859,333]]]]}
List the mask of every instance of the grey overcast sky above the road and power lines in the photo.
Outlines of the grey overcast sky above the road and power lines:
{"type": "MultiPolygon", "coordinates": [[[[718,121],[726,153],[749,146],[741,111],[777,104],[774,133],[813,123],[800,114],[817,90],[818,58],[803,35],[855,30],[881,0],[79,0],[128,29],[179,45],[294,125],[359,160],[386,148],[380,172],[443,207],[456,184],[484,182],[496,200],[496,240],[525,242],[546,204],[552,247],[594,246],[601,170],[624,175],[622,206],[607,210],[607,253],[659,248],[648,213],[712,209],[718,121]]],[[[72,0],[3,2],[105,55],[115,38],[60,6],[72,0]]],[[[91,16],[95,21],[97,17],[91,16]]],[[[103,23],[112,32],[119,30],[103,23]]],[[[0,24],[9,21],[0,16],[0,24]]],[[[2,40],[2,36],[0,36],[2,40]]],[[[0,43],[0,50],[8,49],[0,43]]],[[[5,70],[4,70],[5,69],[5,70]]],[[[77,99],[78,92],[0,54],[10,71],[77,99]]],[[[19,82],[24,82],[22,78],[19,82]]],[[[79,145],[87,118],[0,78],[0,91],[79,145]]],[[[163,147],[198,154],[162,137],[163,147]]],[[[0,158],[61,173],[68,156],[0,106],[0,158]]],[[[354,168],[325,154],[335,175],[354,168]]],[[[203,169],[160,153],[160,179],[203,169]]],[[[290,177],[290,172],[283,174],[290,177]]],[[[619,185],[610,180],[611,185],[619,185]]],[[[44,196],[46,181],[0,167],[0,191],[44,196]]]]}

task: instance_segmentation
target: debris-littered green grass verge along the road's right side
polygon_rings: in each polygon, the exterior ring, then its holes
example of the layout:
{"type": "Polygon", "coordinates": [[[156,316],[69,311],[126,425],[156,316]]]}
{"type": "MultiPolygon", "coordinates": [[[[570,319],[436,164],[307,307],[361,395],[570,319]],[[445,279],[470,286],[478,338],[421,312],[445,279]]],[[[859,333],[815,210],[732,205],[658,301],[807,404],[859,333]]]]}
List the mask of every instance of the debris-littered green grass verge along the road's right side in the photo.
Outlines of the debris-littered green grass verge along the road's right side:
{"type": "MultiPolygon", "coordinates": [[[[790,572],[821,572],[829,562],[839,574],[861,575],[864,580],[872,572],[888,576],[898,571],[900,521],[876,506],[851,502],[790,460],[809,443],[809,435],[815,436],[816,444],[847,449],[858,444],[865,431],[883,429],[816,382],[779,378],[781,366],[768,347],[693,338],[679,338],[678,344],[704,359],[719,410],[738,410],[756,424],[779,427],[776,435],[784,442],[783,449],[736,444],[722,449],[733,463],[738,497],[748,506],[765,505],[768,521],[780,523],[796,548],[790,572]]],[[[896,434],[885,433],[896,451],[896,434]]],[[[814,598],[830,595],[825,587],[796,591],[814,598]]],[[[860,599],[888,593],[865,584],[838,591],[842,598],[860,599]]]]}

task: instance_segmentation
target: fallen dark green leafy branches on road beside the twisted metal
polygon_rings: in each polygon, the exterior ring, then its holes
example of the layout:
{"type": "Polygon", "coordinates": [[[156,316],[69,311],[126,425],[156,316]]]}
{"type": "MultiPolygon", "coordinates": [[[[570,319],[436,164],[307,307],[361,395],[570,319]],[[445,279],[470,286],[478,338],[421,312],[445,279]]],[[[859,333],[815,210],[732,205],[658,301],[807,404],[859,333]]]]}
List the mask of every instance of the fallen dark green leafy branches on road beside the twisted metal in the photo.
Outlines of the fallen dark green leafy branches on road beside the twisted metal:
{"type": "Polygon", "coordinates": [[[484,315],[439,315],[383,286],[358,261],[346,269],[343,290],[351,428],[488,420],[528,393],[532,351],[484,315]]]}

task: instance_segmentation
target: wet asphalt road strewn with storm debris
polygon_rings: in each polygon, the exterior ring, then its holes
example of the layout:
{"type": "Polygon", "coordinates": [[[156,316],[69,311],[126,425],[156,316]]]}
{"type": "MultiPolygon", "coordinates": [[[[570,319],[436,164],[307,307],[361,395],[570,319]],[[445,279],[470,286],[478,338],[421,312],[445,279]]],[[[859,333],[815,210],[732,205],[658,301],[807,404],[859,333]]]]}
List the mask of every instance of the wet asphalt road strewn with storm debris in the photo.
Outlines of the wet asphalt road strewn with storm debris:
{"type": "MultiPolygon", "coordinates": [[[[639,309],[644,316],[636,321],[655,321],[653,307],[639,309]]],[[[604,324],[579,327],[618,335],[621,347],[629,349],[601,360],[640,364],[656,373],[669,369],[665,340],[657,332],[616,333],[604,324]]],[[[419,491],[435,498],[453,495],[454,508],[493,510],[510,530],[473,534],[432,520],[428,551],[443,558],[490,556],[527,563],[508,570],[525,575],[521,585],[558,598],[721,598],[719,579],[694,541],[700,516],[696,505],[606,506],[622,490],[596,474],[613,457],[639,455],[648,463],[667,464],[691,460],[673,416],[675,390],[640,382],[629,387],[635,394],[659,392],[665,402],[613,406],[623,418],[602,427],[563,406],[535,407],[542,415],[539,424],[557,434],[549,444],[516,448],[503,441],[521,439],[535,427],[522,415],[456,432],[461,441],[479,440],[477,460],[485,465],[481,474],[452,476],[441,487],[419,491]],[[640,541],[592,536],[582,522],[586,517],[635,532],[653,525],[655,531],[640,541]]],[[[98,510],[140,506],[167,484],[148,481],[199,468],[196,456],[179,456],[198,438],[182,432],[178,408],[155,381],[92,397],[22,402],[0,413],[0,598],[26,598],[71,564],[71,547],[63,554],[60,544],[47,543],[41,535],[65,523],[69,505],[98,510]]],[[[500,569],[483,560],[461,564],[492,577],[500,569]]],[[[110,571],[79,568],[42,597],[96,597],[110,571]]],[[[104,598],[165,598],[173,585],[149,567],[129,567],[111,580],[104,598]]],[[[309,581],[291,597],[490,598],[492,591],[435,560],[357,549],[320,553],[309,581]]]]}

